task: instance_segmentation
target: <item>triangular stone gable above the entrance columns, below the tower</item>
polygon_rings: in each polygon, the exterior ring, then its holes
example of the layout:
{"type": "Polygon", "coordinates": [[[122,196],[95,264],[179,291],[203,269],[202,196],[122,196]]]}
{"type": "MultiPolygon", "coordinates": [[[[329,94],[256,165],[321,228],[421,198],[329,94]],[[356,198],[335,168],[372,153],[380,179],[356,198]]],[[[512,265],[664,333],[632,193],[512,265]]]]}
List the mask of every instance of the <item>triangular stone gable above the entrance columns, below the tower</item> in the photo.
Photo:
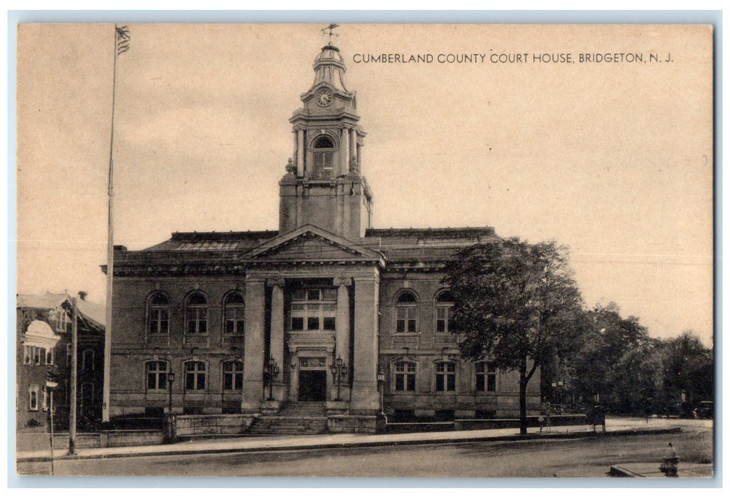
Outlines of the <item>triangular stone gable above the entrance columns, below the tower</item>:
{"type": "Polygon", "coordinates": [[[383,255],[356,242],[306,224],[274,237],[247,253],[253,261],[373,261],[383,255]]]}

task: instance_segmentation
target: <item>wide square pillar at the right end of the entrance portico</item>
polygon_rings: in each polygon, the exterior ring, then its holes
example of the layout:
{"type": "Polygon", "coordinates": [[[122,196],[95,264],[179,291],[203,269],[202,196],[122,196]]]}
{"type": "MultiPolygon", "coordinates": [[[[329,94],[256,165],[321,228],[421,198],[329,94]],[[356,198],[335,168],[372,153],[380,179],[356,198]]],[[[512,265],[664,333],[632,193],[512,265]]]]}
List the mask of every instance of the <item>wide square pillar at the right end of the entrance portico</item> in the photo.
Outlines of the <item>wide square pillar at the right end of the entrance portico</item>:
{"type": "Polygon", "coordinates": [[[377,392],[378,280],[355,278],[355,357],[350,413],[374,415],[380,410],[377,392]]]}

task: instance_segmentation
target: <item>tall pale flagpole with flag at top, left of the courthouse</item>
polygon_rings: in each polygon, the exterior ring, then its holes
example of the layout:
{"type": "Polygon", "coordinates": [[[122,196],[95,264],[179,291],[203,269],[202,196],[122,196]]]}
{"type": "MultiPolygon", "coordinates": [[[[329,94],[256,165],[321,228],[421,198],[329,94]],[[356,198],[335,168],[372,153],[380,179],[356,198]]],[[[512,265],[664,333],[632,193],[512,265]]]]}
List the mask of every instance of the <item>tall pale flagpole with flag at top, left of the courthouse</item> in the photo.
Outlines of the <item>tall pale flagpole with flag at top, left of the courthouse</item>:
{"type": "Polygon", "coordinates": [[[117,96],[117,58],[119,56],[119,31],[114,25],[114,77],[112,80],[112,127],[109,141],[109,218],[107,220],[107,316],[104,326],[104,399],[101,405],[101,421],[110,419],[111,367],[112,367],[112,282],[114,278],[114,109],[117,96]]]}

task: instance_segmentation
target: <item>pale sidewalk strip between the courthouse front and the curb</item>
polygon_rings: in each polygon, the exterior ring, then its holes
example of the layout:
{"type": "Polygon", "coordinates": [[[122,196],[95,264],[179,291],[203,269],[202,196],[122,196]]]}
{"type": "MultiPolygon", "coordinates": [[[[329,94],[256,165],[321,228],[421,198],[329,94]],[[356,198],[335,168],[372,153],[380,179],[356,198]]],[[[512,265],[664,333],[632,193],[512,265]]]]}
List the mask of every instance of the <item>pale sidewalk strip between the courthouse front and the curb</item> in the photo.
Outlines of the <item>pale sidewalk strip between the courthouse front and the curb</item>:
{"type": "MultiPolygon", "coordinates": [[[[637,434],[678,432],[680,424],[645,424],[642,419],[607,421],[610,434],[637,434]]],[[[129,456],[161,456],[200,453],[242,453],[250,451],[303,450],[316,448],[344,448],[361,446],[416,445],[443,443],[471,443],[487,440],[532,440],[541,438],[565,438],[593,435],[593,426],[554,426],[549,432],[539,432],[531,427],[526,436],[519,429],[487,429],[475,431],[414,432],[409,434],[317,434],[307,436],[226,437],[180,441],[169,445],[126,446],[119,448],[77,448],[73,456],[66,451],[56,451],[53,458],[97,459],[129,456]]],[[[50,449],[20,451],[21,461],[50,460],[50,449]]]]}

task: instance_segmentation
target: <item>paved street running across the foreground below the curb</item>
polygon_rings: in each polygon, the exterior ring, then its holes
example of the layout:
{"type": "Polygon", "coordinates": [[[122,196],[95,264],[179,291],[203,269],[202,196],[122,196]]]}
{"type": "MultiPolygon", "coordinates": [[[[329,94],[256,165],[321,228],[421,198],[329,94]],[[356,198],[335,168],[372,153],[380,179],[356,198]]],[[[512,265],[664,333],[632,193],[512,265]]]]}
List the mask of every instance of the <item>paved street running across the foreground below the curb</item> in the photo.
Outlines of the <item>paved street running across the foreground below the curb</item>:
{"type": "MultiPolygon", "coordinates": [[[[635,426],[640,427],[637,421],[635,426]]],[[[612,464],[656,463],[667,443],[682,465],[712,461],[710,421],[650,420],[650,427],[683,426],[678,434],[585,437],[571,440],[483,441],[378,448],[319,448],[248,453],[64,459],[56,475],[318,476],[318,477],[607,477],[612,464]]],[[[556,428],[558,429],[558,428],[556,428]]],[[[443,434],[443,433],[442,433],[443,434]]],[[[20,464],[45,473],[47,462],[20,464]]],[[[32,472],[32,471],[31,471],[32,472]]]]}

